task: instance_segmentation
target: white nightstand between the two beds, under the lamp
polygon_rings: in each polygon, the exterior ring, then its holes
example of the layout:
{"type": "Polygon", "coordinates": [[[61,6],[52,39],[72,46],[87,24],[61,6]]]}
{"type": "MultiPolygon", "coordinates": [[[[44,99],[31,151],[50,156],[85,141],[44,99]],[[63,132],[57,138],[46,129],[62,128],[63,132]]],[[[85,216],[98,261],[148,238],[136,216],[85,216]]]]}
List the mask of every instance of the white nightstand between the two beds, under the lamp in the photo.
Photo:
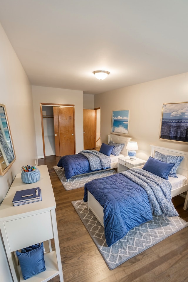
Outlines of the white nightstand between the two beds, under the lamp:
{"type": "Polygon", "coordinates": [[[139,159],[136,157],[136,160],[131,161],[130,157],[126,156],[126,157],[120,157],[118,158],[118,162],[117,162],[117,172],[121,172],[123,170],[126,170],[128,168],[132,168],[132,167],[137,167],[139,165],[143,165],[145,164],[146,161],[139,159]]]}

